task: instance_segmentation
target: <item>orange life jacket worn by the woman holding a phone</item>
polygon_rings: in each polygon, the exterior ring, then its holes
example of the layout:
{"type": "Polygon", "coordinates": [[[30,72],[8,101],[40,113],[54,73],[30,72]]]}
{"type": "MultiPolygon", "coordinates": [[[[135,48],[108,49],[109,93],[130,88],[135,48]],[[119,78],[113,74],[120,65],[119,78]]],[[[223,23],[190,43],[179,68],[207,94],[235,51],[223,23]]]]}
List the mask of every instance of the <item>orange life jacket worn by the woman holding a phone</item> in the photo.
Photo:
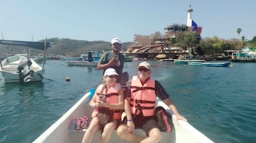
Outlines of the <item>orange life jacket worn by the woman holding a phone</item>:
{"type": "MultiPolygon", "coordinates": [[[[96,90],[97,96],[96,101],[100,98],[100,91],[103,87],[103,84],[99,85],[99,87],[96,90]]],[[[103,90],[102,95],[106,96],[106,101],[109,104],[117,104],[118,103],[118,91],[120,89],[121,85],[119,83],[115,83],[111,88],[109,88],[106,92],[106,88],[103,90]]],[[[114,110],[111,108],[108,108],[108,110],[114,111],[114,117],[113,119],[120,120],[121,119],[121,110],[114,110]]],[[[92,113],[92,117],[97,116],[99,113],[99,108],[95,109],[92,113]]]]}

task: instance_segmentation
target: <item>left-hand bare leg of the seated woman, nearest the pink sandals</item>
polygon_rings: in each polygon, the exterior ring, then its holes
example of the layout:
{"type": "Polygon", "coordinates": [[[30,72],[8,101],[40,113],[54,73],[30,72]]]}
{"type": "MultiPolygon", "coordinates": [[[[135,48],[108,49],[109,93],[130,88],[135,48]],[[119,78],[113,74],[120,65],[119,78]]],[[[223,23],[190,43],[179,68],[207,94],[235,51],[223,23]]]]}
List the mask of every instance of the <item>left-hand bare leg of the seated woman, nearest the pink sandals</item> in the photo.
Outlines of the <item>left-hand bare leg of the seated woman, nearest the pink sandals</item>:
{"type": "Polygon", "coordinates": [[[84,134],[83,143],[92,142],[95,132],[100,129],[98,117],[94,117],[93,120],[90,122],[90,126],[84,134]]]}

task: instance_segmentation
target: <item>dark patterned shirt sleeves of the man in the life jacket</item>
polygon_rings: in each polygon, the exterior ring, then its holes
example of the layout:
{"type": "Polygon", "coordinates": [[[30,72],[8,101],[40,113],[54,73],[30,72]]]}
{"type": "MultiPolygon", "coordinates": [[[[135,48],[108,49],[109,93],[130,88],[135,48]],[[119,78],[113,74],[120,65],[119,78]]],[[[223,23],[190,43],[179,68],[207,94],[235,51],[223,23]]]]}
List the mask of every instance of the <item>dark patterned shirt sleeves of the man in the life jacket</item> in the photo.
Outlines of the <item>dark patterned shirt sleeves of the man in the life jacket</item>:
{"type": "MultiPolygon", "coordinates": [[[[126,82],[126,86],[124,90],[124,98],[131,98],[131,84],[132,84],[131,79],[126,82]]],[[[166,89],[164,89],[157,80],[155,80],[155,92],[156,92],[156,96],[161,100],[166,100],[169,98],[169,94],[166,92],[166,89]]]]}

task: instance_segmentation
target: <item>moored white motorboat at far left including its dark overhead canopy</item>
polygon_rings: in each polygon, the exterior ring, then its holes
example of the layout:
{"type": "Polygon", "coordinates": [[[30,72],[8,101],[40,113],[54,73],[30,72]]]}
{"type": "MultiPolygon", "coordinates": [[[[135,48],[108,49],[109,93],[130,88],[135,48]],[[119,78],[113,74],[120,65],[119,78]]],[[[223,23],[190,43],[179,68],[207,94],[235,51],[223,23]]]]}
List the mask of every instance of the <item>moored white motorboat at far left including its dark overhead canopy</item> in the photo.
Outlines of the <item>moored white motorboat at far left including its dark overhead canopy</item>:
{"type": "MultiPolygon", "coordinates": [[[[43,50],[44,57],[45,51],[50,46],[50,43],[46,42],[30,42],[30,41],[15,41],[15,40],[0,40],[0,44],[31,47],[33,49],[43,50]]],[[[34,60],[22,55],[15,55],[7,57],[1,63],[0,74],[5,83],[9,82],[32,82],[42,81],[44,78],[44,62],[42,67],[38,65],[34,60]]]]}

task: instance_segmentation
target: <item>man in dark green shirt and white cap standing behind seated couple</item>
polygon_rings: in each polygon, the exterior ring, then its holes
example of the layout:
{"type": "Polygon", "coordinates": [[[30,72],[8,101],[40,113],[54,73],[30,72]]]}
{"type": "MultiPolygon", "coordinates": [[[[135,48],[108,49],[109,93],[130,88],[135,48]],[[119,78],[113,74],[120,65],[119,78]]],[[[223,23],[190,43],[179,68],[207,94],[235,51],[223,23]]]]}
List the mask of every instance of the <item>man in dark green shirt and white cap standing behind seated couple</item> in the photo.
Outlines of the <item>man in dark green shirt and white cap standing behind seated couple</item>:
{"type": "Polygon", "coordinates": [[[121,40],[119,38],[113,38],[111,41],[112,51],[102,54],[97,65],[98,70],[103,69],[103,74],[107,68],[114,68],[119,75],[117,83],[120,84],[122,84],[123,65],[125,61],[123,54],[119,53],[121,46],[121,40]]]}

